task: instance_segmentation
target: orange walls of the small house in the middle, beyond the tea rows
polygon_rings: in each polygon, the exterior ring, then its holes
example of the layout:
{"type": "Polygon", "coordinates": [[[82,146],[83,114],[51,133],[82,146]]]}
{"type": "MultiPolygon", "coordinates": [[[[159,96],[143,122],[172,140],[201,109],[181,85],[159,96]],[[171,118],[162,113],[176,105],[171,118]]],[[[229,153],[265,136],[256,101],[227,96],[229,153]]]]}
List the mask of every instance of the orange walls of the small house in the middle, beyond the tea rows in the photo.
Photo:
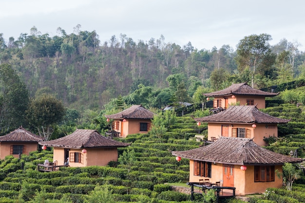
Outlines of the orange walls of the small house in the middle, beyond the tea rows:
{"type": "MultiPolygon", "coordinates": [[[[149,123],[152,127],[151,119],[126,119],[125,122],[122,120],[114,120],[119,122],[120,137],[126,137],[129,134],[135,133],[147,133],[148,131],[140,131],[140,123],[149,123]]],[[[149,129],[148,129],[149,130],[149,129]]]]}

